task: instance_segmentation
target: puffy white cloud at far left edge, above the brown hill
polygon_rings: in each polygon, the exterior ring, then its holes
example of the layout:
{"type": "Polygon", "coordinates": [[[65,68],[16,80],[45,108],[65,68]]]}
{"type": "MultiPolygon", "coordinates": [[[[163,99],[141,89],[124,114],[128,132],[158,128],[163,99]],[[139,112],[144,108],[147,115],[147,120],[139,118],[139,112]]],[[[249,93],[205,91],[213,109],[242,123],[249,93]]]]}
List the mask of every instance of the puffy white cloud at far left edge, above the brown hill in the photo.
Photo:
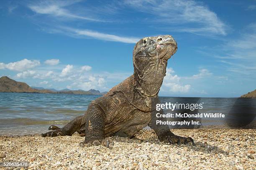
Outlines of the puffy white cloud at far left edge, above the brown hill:
{"type": "Polygon", "coordinates": [[[23,59],[20,61],[16,61],[13,63],[0,63],[0,69],[9,69],[9,70],[13,70],[13,71],[23,71],[23,70],[27,70],[27,69],[31,69],[33,67],[36,67],[40,65],[40,61],[39,60],[28,60],[28,59],[23,59]]]}

